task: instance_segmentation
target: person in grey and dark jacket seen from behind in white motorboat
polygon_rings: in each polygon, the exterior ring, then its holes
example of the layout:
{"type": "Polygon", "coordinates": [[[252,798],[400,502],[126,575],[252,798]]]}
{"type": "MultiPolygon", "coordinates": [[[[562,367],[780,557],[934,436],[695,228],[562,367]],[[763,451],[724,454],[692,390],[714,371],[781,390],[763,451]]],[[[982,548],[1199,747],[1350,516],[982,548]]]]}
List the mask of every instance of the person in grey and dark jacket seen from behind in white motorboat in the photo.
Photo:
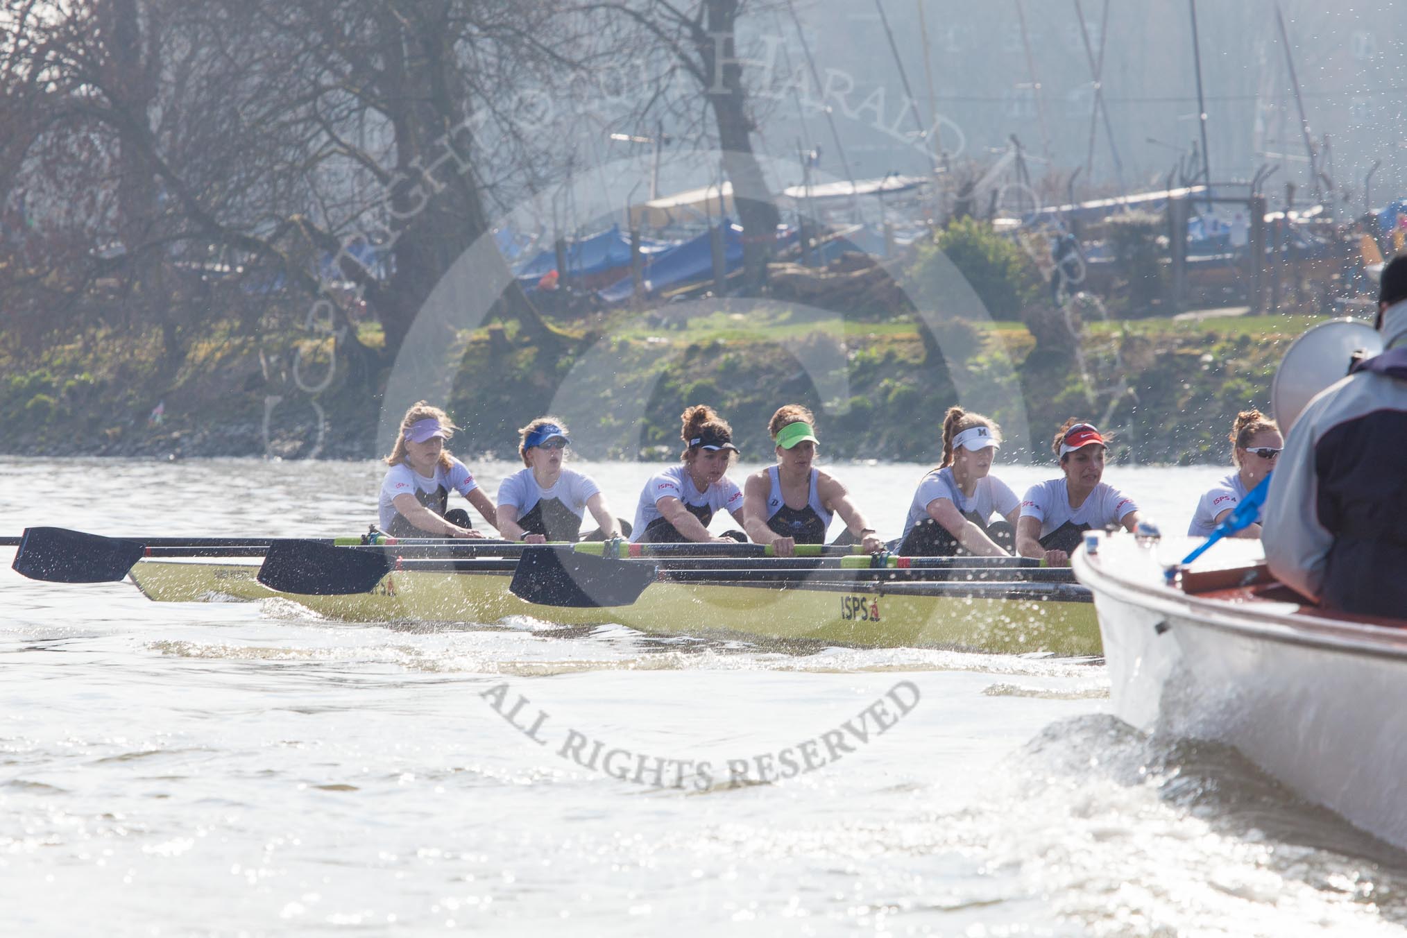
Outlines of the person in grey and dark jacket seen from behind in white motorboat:
{"type": "Polygon", "coordinates": [[[1327,609],[1407,619],[1407,256],[1383,270],[1376,325],[1386,352],[1290,428],[1262,541],[1271,572],[1327,609]]]}

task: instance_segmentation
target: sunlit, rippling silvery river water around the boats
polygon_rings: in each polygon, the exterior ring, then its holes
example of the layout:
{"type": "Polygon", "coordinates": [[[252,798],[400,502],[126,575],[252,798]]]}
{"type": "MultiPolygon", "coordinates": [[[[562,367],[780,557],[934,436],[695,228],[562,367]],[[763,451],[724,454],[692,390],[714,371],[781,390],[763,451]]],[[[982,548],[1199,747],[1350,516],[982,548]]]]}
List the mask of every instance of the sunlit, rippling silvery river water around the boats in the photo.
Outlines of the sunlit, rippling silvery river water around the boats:
{"type": "MultiPolygon", "coordinates": [[[[353,534],[381,468],[0,460],[0,533],[353,534]]],[[[629,518],[658,467],[578,468],[629,518]]],[[[893,537],[922,470],[834,471],[893,537]]],[[[1106,481],[1182,533],[1223,473],[1106,481]]],[[[1407,934],[1401,854],[1107,712],[1100,661],[346,624],[6,568],[0,934],[1407,934]],[[784,751],[815,768],[726,783],[784,751]]]]}

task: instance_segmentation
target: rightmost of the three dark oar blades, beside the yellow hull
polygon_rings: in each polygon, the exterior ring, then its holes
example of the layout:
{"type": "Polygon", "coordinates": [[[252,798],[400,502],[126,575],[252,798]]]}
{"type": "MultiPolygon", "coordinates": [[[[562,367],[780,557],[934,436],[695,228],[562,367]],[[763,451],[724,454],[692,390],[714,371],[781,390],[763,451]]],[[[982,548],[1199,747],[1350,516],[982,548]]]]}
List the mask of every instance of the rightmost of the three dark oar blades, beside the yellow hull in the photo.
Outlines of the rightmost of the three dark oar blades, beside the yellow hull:
{"type": "Polygon", "coordinates": [[[604,560],[556,547],[529,547],[508,589],[539,606],[629,606],[654,582],[653,564],[604,560]]]}

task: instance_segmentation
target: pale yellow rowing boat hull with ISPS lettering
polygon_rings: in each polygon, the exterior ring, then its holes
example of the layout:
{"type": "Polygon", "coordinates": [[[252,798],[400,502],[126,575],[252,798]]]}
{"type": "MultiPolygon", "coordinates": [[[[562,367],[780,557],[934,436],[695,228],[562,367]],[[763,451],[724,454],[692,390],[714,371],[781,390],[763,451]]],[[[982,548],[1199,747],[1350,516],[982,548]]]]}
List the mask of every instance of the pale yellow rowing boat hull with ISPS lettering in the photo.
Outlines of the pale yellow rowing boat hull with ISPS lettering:
{"type": "Polygon", "coordinates": [[[132,581],[159,602],[284,598],[348,622],[497,623],[529,616],[561,626],[619,623],[653,634],[808,640],[861,647],[971,648],[1023,654],[1100,654],[1088,593],[1071,586],[1013,584],[678,584],[646,588],[629,606],[539,606],[508,591],[507,572],[393,571],[370,592],[348,596],[280,593],[253,564],[144,560],[132,581]]]}

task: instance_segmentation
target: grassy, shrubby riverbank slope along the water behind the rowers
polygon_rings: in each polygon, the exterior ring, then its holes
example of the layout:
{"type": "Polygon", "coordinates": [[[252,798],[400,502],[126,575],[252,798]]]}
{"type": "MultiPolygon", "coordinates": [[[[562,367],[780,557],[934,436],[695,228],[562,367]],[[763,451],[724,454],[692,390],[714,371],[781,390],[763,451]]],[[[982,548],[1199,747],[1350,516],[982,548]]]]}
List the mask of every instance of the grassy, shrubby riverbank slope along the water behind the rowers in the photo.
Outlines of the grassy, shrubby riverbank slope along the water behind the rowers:
{"type": "MultiPolygon", "coordinates": [[[[938,338],[926,340],[913,316],[854,322],[719,304],[695,305],[687,319],[616,314],[570,323],[580,340],[561,356],[497,326],[460,332],[446,336],[443,361],[416,367],[453,371],[449,406],[464,426],[463,453],[508,454],[516,426],[570,405],[599,415],[597,426],[574,428],[584,454],[635,456],[637,443],[646,457],[668,458],[680,411],[708,402],[746,453],[761,454],[772,409],[798,401],[817,412],[832,456],[922,461],[934,456],[933,433],[916,428],[936,428],[951,404],[981,399],[995,401],[992,416],[1007,425],[1024,411],[1041,458],[1054,426],[1082,416],[1119,435],[1120,457],[1197,463],[1224,458],[1238,409],[1268,408],[1285,347],[1313,322],[1100,321],[1078,342],[1041,347],[1019,322],[938,325],[938,338]]],[[[377,352],[374,328],[359,338],[377,352]]],[[[387,377],[364,356],[335,352],[331,338],[222,323],[179,361],[153,333],[94,330],[3,352],[0,373],[4,453],[156,458],[376,456],[387,377]]]]}

